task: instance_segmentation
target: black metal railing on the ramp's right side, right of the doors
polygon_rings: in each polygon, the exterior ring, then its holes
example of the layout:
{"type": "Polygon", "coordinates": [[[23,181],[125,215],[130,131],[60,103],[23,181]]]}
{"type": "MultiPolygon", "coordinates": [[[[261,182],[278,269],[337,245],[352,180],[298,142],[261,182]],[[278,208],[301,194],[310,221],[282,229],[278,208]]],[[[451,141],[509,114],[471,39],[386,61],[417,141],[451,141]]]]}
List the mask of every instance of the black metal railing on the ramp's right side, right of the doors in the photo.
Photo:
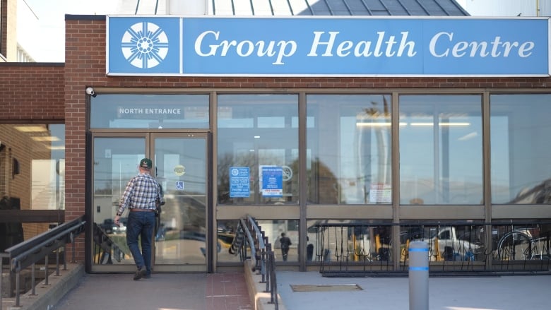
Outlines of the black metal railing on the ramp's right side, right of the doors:
{"type": "Polygon", "coordinates": [[[250,258],[254,258],[254,270],[262,276],[261,283],[266,283],[266,291],[270,293],[270,303],[275,304],[278,310],[278,290],[275,278],[275,256],[268,237],[261,230],[256,220],[247,215],[239,220],[237,233],[230,246],[230,254],[237,255],[244,261],[249,258],[247,249],[251,251],[250,258]]]}

